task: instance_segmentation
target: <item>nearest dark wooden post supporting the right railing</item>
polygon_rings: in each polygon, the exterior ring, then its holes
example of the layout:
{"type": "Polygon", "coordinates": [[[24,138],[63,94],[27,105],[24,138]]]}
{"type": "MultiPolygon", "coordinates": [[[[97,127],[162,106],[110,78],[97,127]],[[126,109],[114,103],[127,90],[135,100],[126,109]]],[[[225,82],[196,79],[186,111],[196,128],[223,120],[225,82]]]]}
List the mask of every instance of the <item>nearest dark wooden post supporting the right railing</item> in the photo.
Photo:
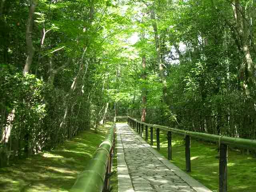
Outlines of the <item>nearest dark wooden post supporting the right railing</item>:
{"type": "Polygon", "coordinates": [[[227,150],[226,144],[220,144],[220,162],[219,162],[219,192],[227,192],[227,150]]]}

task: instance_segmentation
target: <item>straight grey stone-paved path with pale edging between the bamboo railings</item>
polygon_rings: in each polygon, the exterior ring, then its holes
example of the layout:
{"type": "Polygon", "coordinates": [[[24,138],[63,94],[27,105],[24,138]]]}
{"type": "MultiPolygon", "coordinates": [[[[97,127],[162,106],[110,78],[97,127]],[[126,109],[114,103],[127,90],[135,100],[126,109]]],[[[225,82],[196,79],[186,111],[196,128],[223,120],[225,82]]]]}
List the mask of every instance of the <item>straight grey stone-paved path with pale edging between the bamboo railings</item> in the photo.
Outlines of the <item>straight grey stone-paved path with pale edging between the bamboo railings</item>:
{"type": "Polygon", "coordinates": [[[118,192],[212,192],[117,123],[118,192]]]}

